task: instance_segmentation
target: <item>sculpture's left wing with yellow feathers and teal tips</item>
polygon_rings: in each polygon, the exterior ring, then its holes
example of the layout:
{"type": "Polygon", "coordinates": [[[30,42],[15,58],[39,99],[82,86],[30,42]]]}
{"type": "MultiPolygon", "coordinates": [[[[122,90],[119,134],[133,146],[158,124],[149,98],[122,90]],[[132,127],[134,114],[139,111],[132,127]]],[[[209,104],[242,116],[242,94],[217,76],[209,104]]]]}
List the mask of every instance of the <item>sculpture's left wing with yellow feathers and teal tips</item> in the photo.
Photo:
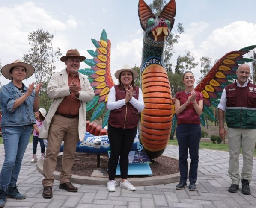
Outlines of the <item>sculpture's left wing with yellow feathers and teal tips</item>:
{"type": "MultiPolygon", "coordinates": [[[[86,104],[86,111],[96,106],[92,113],[91,121],[100,117],[106,109],[106,102],[110,88],[115,85],[110,73],[110,40],[103,29],[100,41],[92,39],[96,50],[87,50],[93,59],[85,59],[84,62],[91,68],[80,69],[79,72],[88,75],[88,79],[94,89],[95,96],[92,101],[86,104]]],[[[107,126],[109,111],[105,112],[103,126],[107,126]]]]}

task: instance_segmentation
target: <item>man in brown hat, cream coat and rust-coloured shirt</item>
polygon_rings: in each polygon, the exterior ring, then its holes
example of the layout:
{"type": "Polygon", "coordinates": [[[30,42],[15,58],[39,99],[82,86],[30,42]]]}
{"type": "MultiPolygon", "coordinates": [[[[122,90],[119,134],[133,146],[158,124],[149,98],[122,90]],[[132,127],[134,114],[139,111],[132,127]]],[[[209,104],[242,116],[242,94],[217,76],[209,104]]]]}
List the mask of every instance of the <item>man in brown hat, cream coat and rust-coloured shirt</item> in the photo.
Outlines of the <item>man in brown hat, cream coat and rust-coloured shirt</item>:
{"type": "Polygon", "coordinates": [[[92,100],[94,91],[89,80],[78,73],[80,62],[85,59],[78,50],[68,50],[60,60],[66,68],[55,73],[48,83],[47,94],[53,99],[45,117],[39,137],[48,140],[42,180],[42,196],[51,198],[54,183],[53,172],[57,156],[64,141],[62,169],[60,172],[60,189],[76,192],[78,189],[70,183],[71,168],[77,142],[84,141],[86,131],[86,102],[92,100]]]}

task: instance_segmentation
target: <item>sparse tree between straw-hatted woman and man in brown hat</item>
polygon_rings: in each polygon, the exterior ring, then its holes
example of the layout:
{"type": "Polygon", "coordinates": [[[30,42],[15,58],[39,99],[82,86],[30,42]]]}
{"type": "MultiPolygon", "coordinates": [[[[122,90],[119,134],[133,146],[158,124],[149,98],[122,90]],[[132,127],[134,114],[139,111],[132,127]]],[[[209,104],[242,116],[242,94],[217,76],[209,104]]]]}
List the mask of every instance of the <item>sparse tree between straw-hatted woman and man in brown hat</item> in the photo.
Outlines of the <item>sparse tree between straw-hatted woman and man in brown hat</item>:
{"type": "Polygon", "coordinates": [[[53,49],[53,39],[54,35],[44,31],[42,28],[30,32],[28,41],[31,48],[22,58],[24,62],[35,67],[36,83],[43,82],[40,105],[46,110],[51,105],[51,99],[46,93],[47,85],[56,69],[54,62],[61,56],[59,47],[55,50],[53,49]]]}

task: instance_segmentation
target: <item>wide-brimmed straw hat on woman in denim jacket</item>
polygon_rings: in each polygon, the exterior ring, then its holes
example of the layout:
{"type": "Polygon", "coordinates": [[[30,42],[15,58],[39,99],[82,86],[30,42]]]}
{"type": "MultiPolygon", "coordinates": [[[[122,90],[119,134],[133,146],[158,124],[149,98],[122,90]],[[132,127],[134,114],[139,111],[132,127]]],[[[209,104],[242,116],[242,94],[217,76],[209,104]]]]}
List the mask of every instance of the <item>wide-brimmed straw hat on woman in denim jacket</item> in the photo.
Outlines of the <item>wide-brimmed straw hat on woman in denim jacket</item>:
{"type": "Polygon", "coordinates": [[[6,79],[12,80],[12,76],[10,73],[10,69],[12,67],[16,67],[16,66],[22,66],[26,69],[26,76],[24,79],[29,78],[30,76],[33,75],[33,73],[35,72],[35,68],[27,63],[22,62],[21,60],[15,60],[12,64],[7,64],[5,65],[2,69],[1,69],[1,73],[3,74],[3,76],[6,79]]]}

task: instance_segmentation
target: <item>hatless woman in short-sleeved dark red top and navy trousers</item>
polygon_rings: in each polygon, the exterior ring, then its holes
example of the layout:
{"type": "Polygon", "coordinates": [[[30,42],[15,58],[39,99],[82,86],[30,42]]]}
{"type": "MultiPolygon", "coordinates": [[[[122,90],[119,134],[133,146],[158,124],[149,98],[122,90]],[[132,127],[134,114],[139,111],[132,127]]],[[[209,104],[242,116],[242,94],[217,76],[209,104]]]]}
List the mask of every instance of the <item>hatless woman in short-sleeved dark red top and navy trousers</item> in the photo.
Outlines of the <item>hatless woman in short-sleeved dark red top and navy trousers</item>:
{"type": "Polygon", "coordinates": [[[180,182],[176,189],[187,186],[189,179],[190,191],[196,190],[197,168],[199,161],[199,143],[201,139],[200,115],[203,108],[203,95],[193,89],[195,78],[192,72],[185,72],[182,78],[185,90],[177,92],[175,113],[178,117],[176,136],[179,145],[180,182]],[[188,149],[190,169],[188,176],[188,149]]]}

